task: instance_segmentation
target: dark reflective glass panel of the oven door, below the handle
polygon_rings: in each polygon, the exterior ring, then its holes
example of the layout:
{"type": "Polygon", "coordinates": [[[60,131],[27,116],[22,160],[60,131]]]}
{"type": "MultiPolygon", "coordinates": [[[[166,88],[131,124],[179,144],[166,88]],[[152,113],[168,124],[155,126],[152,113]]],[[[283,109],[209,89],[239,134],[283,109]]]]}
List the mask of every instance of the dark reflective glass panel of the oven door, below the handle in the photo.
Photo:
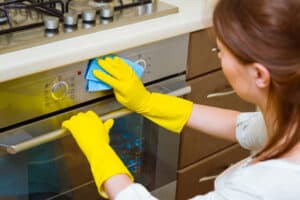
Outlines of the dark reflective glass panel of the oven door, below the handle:
{"type": "MultiPolygon", "coordinates": [[[[175,180],[177,154],[170,164],[162,162],[166,155],[161,157],[161,152],[176,149],[178,143],[163,144],[160,135],[175,135],[165,132],[137,114],[116,119],[110,132],[111,146],[135,181],[149,190],[175,180]]],[[[101,199],[89,164],[70,135],[16,155],[2,155],[0,177],[0,200],[101,199]]]]}

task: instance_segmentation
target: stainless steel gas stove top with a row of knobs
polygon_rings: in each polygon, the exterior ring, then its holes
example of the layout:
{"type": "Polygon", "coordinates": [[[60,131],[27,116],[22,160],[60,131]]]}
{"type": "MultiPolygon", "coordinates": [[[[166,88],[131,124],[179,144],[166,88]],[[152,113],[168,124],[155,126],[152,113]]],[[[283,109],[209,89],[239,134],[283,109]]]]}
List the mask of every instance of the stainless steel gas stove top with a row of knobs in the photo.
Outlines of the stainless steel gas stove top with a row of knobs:
{"type": "Polygon", "coordinates": [[[176,12],[158,0],[0,0],[0,53],[176,12]]]}

